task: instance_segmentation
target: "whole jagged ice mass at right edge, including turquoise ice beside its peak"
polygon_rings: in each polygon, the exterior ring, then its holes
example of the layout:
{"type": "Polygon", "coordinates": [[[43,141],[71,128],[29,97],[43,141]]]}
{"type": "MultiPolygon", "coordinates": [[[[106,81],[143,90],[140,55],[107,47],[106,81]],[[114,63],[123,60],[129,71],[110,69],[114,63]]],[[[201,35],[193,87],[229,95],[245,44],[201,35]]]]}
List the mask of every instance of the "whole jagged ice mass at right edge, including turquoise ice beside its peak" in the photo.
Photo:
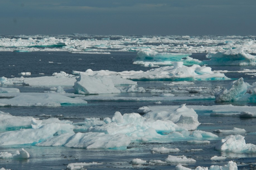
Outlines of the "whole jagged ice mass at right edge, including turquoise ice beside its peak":
{"type": "Polygon", "coordinates": [[[243,78],[231,82],[215,94],[215,102],[256,102],[256,83],[245,83],[243,78]]]}

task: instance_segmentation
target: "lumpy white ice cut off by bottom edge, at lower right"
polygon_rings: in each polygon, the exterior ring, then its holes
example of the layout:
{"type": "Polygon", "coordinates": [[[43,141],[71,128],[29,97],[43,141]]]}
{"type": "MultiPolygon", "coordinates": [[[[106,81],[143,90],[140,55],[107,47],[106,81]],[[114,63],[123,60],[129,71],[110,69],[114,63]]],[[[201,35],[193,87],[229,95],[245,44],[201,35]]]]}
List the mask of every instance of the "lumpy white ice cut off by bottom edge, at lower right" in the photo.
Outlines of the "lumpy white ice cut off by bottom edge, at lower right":
{"type": "MultiPolygon", "coordinates": [[[[208,167],[196,167],[195,169],[190,169],[187,167],[184,167],[182,165],[177,165],[175,167],[175,170],[208,170],[208,167]]],[[[229,161],[227,165],[224,166],[218,166],[218,165],[212,165],[209,170],[238,170],[237,164],[233,161],[229,161]]]]}

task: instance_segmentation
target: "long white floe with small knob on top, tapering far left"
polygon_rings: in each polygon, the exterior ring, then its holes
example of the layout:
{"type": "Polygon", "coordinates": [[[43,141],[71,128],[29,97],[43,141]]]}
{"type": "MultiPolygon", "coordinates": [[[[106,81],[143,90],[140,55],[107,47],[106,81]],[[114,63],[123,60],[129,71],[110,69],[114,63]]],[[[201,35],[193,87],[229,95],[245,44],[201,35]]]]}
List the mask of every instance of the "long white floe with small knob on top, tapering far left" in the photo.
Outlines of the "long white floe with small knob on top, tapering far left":
{"type": "Polygon", "coordinates": [[[88,76],[108,75],[118,76],[135,81],[200,81],[200,80],[229,80],[223,73],[213,72],[210,67],[194,64],[191,67],[183,65],[183,62],[172,62],[173,66],[165,66],[148,71],[122,71],[114,72],[108,70],[85,72],[73,71],[73,74],[85,74],[88,76]]]}

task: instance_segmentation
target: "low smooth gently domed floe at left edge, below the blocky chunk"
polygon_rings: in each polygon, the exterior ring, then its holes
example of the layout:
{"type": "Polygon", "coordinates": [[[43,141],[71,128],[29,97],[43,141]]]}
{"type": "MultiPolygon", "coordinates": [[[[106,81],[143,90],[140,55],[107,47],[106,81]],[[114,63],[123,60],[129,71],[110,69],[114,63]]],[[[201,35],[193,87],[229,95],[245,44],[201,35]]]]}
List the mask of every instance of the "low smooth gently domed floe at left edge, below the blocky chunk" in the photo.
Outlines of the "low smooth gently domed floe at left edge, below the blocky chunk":
{"type": "Polygon", "coordinates": [[[39,107],[56,107],[61,104],[87,104],[81,99],[74,99],[59,94],[52,93],[20,93],[11,99],[0,99],[0,106],[39,106],[39,107]]]}

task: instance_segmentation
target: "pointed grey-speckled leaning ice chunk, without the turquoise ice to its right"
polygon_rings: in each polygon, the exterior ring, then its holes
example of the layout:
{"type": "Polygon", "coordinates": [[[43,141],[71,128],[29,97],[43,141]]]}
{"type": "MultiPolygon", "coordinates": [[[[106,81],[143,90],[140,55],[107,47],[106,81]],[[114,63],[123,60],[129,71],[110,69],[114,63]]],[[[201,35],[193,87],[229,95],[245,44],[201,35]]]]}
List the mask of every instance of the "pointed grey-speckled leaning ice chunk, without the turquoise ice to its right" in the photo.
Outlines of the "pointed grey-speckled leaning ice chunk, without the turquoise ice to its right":
{"type": "Polygon", "coordinates": [[[216,102],[234,102],[245,95],[247,85],[244,83],[243,78],[228,84],[227,87],[215,94],[216,102]]]}

